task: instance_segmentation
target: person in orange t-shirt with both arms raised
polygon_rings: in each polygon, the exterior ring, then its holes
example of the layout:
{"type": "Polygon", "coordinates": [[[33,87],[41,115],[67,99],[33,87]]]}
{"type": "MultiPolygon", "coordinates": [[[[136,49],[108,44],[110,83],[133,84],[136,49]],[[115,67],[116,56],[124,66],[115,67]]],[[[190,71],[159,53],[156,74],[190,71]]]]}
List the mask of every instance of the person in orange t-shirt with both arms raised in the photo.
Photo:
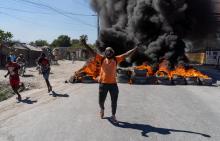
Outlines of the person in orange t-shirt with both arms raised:
{"type": "Polygon", "coordinates": [[[117,64],[124,61],[126,57],[132,55],[137,47],[122,54],[115,56],[115,52],[111,47],[105,49],[105,55],[102,56],[95,52],[91,47],[88,46],[85,40],[81,41],[82,44],[95,56],[95,60],[101,64],[101,70],[99,74],[99,106],[100,106],[100,117],[104,118],[104,103],[106,100],[107,93],[111,96],[111,107],[112,107],[112,121],[117,122],[116,110],[117,110],[117,100],[118,100],[118,85],[116,82],[116,69],[117,64]]]}

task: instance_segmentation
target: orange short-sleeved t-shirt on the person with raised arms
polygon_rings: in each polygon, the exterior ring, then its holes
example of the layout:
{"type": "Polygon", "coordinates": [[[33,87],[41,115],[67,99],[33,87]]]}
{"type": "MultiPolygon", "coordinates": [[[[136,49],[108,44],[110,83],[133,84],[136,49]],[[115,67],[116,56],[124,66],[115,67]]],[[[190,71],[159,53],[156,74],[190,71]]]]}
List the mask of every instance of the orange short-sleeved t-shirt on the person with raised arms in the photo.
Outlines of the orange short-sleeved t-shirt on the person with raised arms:
{"type": "Polygon", "coordinates": [[[115,84],[116,83],[116,69],[117,69],[117,63],[122,62],[125,59],[125,56],[119,55],[115,57],[116,60],[108,59],[103,57],[100,54],[96,54],[96,60],[101,64],[101,70],[100,70],[100,78],[99,82],[104,84],[115,84]],[[103,60],[104,59],[104,60],[103,60]],[[117,62],[116,62],[117,61],[117,62]]]}

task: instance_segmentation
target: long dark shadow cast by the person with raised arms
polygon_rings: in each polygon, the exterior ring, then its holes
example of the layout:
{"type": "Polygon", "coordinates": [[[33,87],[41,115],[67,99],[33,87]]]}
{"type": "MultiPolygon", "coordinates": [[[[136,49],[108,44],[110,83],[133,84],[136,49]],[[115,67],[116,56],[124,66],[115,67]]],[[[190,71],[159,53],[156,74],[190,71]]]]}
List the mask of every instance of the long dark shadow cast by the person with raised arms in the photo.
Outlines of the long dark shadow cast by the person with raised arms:
{"type": "Polygon", "coordinates": [[[188,133],[188,134],[197,134],[201,135],[203,137],[210,138],[210,135],[198,133],[198,132],[192,132],[192,131],[185,131],[185,130],[176,130],[176,129],[167,129],[167,128],[159,128],[159,127],[153,127],[146,124],[136,124],[136,123],[128,123],[128,122],[112,122],[111,118],[106,118],[112,125],[119,127],[119,128],[126,128],[126,129],[134,129],[134,130],[140,130],[141,135],[144,137],[148,137],[148,133],[158,133],[161,135],[169,135],[172,132],[181,132],[181,133],[188,133]]]}

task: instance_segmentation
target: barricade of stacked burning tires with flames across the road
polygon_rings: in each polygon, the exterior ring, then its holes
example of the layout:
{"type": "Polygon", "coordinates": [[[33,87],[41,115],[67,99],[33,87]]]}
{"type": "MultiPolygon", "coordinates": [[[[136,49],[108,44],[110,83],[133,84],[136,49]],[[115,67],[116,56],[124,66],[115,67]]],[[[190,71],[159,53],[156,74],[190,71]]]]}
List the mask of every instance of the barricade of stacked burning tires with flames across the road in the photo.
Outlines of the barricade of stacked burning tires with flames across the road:
{"type": "MultiPolygon", "coordinates": [[[[76,71],[70,78],[71,83],[97,83],[100,63],[90,59],[80,70],[76,71]]],[[[129,84],[162,84],[162,85],[206,85],[213,84],[212,78],[184,65],[177,65],[175,69],[168,68],[168,62],[160,63],[156,72],[153,68],[144,63],[141,66],[117,69],[118,83],[129,84]]]]}

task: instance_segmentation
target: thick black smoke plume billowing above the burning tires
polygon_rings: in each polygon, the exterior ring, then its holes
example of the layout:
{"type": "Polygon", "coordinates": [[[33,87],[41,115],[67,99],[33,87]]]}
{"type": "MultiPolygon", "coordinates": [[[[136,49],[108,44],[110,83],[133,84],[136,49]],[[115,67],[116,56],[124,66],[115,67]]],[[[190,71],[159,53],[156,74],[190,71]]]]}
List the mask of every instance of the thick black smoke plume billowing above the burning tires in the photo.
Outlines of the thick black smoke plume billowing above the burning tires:
{"type": "Polygon", "coordinates": [[[141,44],[127,65],[185,62],[184,40],[216,30],[211,0],[91,0],[91,6],[100,16],[101,51],[111,46],[121,54],[141,44]]]}

